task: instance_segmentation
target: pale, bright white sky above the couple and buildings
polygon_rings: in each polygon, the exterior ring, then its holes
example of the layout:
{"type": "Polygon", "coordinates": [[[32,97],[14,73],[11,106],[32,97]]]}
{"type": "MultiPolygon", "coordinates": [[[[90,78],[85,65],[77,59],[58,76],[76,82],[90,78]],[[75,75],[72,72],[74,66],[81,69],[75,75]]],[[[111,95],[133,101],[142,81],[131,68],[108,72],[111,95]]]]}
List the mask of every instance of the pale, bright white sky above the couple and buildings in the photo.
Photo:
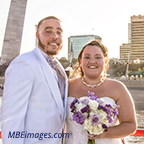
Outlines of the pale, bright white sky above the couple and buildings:
{"type": "MultiPolygon", "coordinates": [[[[0,0],[0,53],[11,0],[0,0]]],[[[44,17],[63,22],[63,49],[67,58],[68,37],[94,34],[102,38],[109,58],[119,58],[119,48],[128,43],[128,23],[133,15],[144,15],[144,0],[28,0],[20,53],[35,48],[35,25],[44,17]]],[[[0,54],[1,55],[1,54],[0,54]]]]}

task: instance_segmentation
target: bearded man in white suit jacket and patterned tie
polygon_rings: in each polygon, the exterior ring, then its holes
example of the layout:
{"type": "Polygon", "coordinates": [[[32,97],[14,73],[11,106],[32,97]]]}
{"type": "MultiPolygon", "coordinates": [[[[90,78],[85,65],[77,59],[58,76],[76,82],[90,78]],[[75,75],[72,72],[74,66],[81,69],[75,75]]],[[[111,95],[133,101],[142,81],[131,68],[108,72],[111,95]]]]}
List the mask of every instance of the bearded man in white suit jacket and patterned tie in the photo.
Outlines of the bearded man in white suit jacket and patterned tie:
{"type": "Polygon", "coordinates": [[[3,144],[62,144],[67,78],[54,58],[62,48],[62,34],[58,18],[42,19],[38,46],[8,67],[1,111],[3,144]]]}

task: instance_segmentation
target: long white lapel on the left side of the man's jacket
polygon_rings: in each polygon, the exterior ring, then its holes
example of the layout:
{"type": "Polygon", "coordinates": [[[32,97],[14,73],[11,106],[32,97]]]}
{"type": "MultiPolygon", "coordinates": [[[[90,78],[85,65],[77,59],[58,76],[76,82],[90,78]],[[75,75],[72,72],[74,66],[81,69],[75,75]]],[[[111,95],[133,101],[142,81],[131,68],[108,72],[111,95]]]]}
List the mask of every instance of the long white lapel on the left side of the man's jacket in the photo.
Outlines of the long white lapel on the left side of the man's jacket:
{"type": "Polygon", "coordinates": [[[55,79],[55,77],[51,71],[51,68],[50,68],[49,64],[47,63],[46,59],[44,58],[44,56],[42,55],[42,53],[38,47],[36,47],[34,49],[34,53],[38,59],[38,62],[40,63],[40,66],[41,66],[43,72],[44,72],[46,81],[50,87],[52,96],[53,96],[53,98],[54,98],[54,100],[55,100],[55,102],[59,108],[59,111],[63,115],[64,114],[64,108],[63,108],[63,102],[61,99],[61,94],[59,91],[57,81],[56,81],[56,79],[55,79]]]}

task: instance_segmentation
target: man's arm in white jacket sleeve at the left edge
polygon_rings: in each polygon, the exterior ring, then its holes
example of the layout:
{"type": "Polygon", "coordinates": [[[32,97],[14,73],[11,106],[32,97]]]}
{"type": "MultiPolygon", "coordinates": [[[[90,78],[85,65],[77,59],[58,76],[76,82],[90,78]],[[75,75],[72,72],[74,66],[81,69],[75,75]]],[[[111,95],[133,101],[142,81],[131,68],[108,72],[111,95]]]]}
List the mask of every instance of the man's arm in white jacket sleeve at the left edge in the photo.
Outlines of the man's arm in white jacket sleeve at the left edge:
{"type": "Polygon", "coordinates": [[[1,129],[4,144],[24,143],[23,138],[11,138],[9,134],[25,130],[25,117],[33,81],[32,69],[24,61],[12,62],[6,71],[1,106],[1,129]]]}

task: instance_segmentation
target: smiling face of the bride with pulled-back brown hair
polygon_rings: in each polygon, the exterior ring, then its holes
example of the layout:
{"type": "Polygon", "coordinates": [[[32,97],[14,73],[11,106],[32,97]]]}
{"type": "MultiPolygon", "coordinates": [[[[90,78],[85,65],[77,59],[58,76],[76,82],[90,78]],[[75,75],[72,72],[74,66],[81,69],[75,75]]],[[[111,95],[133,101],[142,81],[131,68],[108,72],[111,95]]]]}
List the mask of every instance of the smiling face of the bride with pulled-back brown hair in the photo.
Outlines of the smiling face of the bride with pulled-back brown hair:
{"type": "Polygon", "coordinates": [[[81,58],[81,67],[84,75],[101,77],[105,69],[105,57],[98,46],[87,46],[81,58]]]}

